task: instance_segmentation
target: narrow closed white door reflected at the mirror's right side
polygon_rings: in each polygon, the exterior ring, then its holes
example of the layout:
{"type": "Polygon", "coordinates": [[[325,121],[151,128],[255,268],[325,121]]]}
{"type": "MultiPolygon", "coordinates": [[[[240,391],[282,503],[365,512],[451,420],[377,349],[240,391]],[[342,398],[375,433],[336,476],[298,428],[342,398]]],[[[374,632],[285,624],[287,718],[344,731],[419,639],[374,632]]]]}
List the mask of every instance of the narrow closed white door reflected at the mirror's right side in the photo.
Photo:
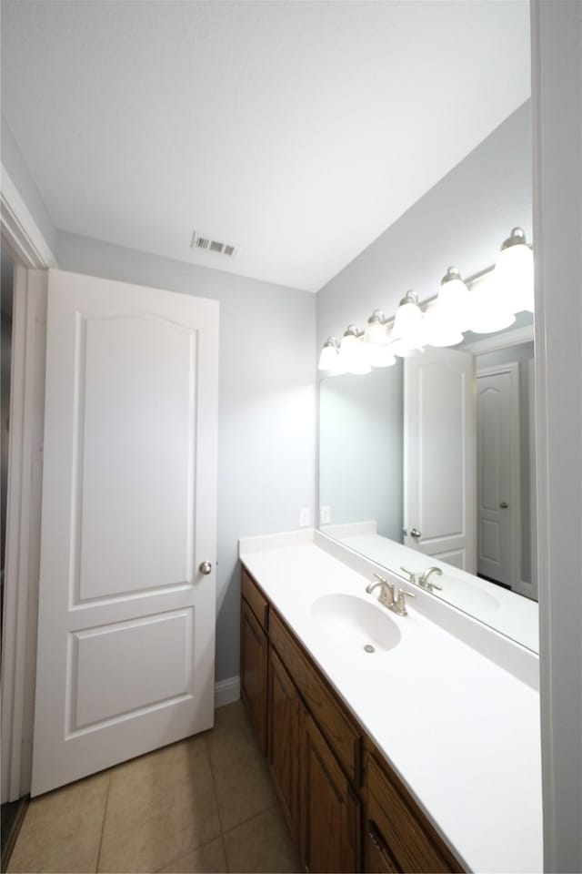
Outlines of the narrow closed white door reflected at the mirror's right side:
{"type": "Polygon", "coordinates": [[[477,571],[517,584],[519,567],[518,365],[477,372],[477,571]]]}

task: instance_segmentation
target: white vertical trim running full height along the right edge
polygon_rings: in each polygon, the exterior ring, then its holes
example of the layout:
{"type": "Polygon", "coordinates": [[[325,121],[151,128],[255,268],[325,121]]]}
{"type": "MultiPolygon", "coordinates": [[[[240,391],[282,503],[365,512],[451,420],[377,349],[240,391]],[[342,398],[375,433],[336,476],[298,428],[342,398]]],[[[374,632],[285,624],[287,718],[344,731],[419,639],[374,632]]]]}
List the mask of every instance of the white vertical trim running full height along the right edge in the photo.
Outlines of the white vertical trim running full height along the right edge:
{"type": "Polygon", "coordinates": [[[582,871],[582,17],[531,13],[544,870],[582,871]]]}

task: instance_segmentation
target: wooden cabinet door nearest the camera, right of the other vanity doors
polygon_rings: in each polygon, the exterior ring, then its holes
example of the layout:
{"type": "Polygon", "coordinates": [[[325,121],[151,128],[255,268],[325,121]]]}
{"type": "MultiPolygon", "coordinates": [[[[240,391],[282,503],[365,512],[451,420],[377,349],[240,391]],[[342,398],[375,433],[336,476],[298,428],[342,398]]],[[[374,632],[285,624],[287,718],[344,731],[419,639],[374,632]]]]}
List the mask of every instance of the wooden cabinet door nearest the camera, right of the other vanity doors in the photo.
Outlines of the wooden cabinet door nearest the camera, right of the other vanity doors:
{"type": "Polygon", "coordinates": [[[302,719],[301,849],[310,872],[360,870],[360,803],[310,716],[302,719]]]}

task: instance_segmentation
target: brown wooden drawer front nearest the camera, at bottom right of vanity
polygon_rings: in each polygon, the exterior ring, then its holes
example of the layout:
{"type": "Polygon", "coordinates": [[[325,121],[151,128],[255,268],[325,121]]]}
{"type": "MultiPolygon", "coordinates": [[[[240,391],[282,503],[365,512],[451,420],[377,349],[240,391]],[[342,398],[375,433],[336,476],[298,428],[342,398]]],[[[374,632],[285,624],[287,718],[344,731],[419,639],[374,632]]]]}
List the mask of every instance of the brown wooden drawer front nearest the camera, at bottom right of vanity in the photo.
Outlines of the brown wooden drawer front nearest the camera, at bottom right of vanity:
{"type": "Polygon", "coordinates": [[[367,821],[376,826],[379,836],[405,872],[461,872],[457,859],[447,849],[416,803],[388,777],[374,757],[367,755],[367,821]]]}

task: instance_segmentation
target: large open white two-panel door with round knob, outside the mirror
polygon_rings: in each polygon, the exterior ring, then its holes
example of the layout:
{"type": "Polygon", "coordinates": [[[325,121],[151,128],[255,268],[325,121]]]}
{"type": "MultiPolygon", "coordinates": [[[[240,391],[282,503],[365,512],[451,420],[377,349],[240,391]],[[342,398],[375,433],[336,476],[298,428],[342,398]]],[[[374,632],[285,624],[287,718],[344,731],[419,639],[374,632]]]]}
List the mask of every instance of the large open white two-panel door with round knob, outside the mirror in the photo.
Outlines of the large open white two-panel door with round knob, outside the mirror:
{"type": "Polygon", "coordinates": [[[49,272],[33,796],[213,724],[217,362],[216,301],[49,272]]]}

